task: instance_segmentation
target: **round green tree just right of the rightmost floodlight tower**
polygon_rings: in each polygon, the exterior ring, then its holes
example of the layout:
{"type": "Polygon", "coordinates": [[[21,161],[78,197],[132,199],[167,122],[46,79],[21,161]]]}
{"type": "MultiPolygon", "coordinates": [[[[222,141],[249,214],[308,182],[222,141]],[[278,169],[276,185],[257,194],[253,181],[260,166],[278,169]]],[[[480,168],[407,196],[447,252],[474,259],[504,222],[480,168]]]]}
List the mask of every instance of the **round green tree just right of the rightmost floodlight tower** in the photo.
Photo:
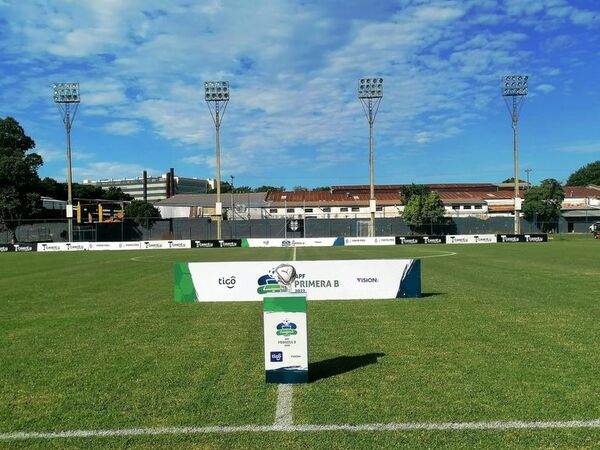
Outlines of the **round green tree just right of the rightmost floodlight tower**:
{"type": "Polygon", "coordinates": [[[545,231],[554,228],[560,217],[560,208],[565,193],[561,184],[554,178],[542,181],[525,194],[523,213],[527,220],[537,220],[545,231]]]}

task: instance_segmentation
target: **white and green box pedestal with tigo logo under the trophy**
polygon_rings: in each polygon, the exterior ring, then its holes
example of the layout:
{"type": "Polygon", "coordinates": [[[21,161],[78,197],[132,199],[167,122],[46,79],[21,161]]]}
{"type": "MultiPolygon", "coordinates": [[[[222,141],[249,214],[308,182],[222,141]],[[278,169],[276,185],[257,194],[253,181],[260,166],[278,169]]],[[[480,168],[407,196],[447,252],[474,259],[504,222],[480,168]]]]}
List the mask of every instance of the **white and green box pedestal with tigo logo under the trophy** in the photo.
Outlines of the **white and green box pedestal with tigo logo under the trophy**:
{"type": "Polygon", "coordinates": [[[308,383],[306,294],[267,294],[263,307],[266,382],[308,383]]]}

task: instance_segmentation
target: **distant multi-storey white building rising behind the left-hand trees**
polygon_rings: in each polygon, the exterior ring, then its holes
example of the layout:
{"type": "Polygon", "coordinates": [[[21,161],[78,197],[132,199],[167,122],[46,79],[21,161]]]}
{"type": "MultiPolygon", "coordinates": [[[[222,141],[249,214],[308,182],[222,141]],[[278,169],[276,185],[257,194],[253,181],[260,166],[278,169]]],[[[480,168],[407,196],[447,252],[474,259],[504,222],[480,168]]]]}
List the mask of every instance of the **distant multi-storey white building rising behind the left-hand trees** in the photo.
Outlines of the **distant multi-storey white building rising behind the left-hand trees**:
{"type": "MultiPolygon", "coordinates": [[[[83,180],[83,184],[91,184],[103,189],[118,187],[124,193],[131,195],[134,200],[144,200],[144,177],[83,180]]],[[[208,189],[209,180],[178,177],[174,175],[172,169],[163,175],[146,177],[146,200],[152,203],[175,194],[202,194],[208,192],[208,189]]]]}

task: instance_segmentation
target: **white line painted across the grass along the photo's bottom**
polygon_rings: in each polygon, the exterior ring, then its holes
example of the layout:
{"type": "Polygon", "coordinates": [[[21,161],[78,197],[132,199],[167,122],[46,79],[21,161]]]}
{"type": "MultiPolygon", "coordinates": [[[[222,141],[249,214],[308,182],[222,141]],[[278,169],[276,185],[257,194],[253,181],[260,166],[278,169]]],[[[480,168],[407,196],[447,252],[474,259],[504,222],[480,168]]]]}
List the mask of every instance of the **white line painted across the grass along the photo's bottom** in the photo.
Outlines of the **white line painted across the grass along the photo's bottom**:
{"type": "Polygon", "coordinates": [[[55,432],[0,433],[0,441],[23,439],[56,439],[112,436],[144,436],[160,434],[208,434],[208,433],[265,433],[265,432],[321,432],[321,431],[461,431],[461,430],[540,430],[569,428],[600,428],[600,419],[538,422],[406,422],[330,424],[330,425],[241,425],[208,427],[129,428],[123,430],[73,430],[55,432]]]}

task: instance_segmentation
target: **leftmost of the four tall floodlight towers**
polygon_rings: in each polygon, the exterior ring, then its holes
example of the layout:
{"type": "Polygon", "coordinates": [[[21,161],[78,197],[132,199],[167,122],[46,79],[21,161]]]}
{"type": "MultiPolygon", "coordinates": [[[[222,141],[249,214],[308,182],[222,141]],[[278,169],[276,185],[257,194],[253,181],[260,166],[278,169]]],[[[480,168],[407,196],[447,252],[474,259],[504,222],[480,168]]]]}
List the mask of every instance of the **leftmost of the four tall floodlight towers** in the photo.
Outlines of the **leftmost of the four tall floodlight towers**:
{"type": "Polygon", "coordinates": [[[52,86],[54,103],[61,113],[67,131],[67,230],[69,242],[73,242],[73,194],[71,175],[71,126],[79,107],[79,83],[55,83],[52,86]],[[72,111],[72,112],[71,112],[72,111]]]}

